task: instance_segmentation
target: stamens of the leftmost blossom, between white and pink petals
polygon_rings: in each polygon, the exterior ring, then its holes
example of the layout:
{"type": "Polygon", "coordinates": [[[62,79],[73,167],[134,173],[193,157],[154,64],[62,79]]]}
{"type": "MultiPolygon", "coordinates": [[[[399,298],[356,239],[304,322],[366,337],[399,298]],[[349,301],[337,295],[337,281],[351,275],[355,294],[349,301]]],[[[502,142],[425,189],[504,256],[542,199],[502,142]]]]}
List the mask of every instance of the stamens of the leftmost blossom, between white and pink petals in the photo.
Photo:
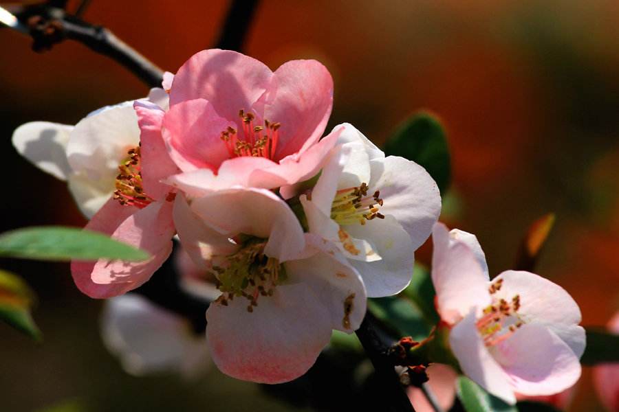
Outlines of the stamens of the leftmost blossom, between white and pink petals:
{"type": "Polygon", "coordinates": [[[142,209],[148,206],[153,199],[144,194],[142,188],[142,172],[140,172],[140,146],[127,152],[127,159],[120,165],[120,174],[116,176],[116,190],[114,198],[121,205],[135,206],[142,209]]]}

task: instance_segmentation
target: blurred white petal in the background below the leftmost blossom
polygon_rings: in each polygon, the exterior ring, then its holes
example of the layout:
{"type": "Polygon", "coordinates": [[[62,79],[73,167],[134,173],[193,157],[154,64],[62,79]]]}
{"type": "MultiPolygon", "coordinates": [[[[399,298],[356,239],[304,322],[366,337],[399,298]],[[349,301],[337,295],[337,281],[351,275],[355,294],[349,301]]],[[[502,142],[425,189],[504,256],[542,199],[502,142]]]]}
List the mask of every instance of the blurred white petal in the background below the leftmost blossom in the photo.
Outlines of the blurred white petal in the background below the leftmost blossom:
{"type": "Polygon", "coordinates": [[[206,340],[191,330],[188,321],[140,295],[106,301],[101,333],[108,350],[120,357],[129,374],[174,371],[192,375],[210,363],[206,340]]]}

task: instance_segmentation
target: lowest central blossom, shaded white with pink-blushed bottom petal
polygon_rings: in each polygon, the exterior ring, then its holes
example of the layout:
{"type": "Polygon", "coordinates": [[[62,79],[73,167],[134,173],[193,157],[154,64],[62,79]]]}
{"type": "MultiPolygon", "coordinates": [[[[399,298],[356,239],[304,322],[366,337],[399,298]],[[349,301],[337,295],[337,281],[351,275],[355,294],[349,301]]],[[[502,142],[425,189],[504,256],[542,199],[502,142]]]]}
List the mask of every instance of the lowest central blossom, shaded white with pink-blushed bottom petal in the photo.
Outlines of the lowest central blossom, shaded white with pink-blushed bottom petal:
{"type": "Polygon", "coordinates": [[[365,314],[360,275],[338,250],[303,233],[270,190],[232,188],[191,203],[178,194],[178,235],[194,262],[217,277],[207,343],[224,373],[254,382],[301,376],[331,338],[365,314]]]}

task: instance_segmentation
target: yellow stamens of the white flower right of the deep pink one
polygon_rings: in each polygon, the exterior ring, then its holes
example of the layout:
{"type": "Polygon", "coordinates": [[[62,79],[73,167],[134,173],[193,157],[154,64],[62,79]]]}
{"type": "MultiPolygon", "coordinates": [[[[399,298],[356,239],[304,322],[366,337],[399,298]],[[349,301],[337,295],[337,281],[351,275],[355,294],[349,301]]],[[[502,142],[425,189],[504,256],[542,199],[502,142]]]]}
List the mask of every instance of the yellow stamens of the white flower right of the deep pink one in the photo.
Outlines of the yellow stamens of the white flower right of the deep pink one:
{"type": "Polygon", "coordinates": [[[331,205],[331,218],[338,225],[365,225],[366,220],[375,218],[384,219],[384,215],[378,211],[382,206],[380,191],[367,196],[367,183],[361,183],[359,187],[349,187],[338,190],[331,205]]]}

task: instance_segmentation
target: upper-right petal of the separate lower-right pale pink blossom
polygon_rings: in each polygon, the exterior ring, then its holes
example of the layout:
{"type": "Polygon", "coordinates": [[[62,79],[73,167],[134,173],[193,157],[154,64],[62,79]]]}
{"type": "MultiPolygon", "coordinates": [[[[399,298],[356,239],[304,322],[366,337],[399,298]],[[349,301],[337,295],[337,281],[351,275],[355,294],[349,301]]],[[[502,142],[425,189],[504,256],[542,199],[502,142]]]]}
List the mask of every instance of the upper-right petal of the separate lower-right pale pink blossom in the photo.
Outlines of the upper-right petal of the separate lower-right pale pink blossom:
{"type": "Polygon", "coordinates": [[[576,301],[565,289],[548,279],[525,271],[505,271],[497,298],[520,295],[519,314],[527,323],[540,323],[557,334],[576,357],[585,351],[585,330],[578,326],[582,317],[576,301]]]}

